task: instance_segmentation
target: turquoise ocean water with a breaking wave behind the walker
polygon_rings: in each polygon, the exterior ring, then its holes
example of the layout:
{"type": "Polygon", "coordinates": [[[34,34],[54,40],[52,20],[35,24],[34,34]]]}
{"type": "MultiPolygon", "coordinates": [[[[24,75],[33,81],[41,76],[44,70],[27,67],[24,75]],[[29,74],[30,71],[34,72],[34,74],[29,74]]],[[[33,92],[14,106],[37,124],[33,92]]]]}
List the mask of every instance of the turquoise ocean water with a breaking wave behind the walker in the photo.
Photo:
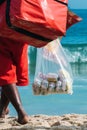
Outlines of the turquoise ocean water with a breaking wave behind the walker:
{"type": "MultiPolygon", "coordinates": [[[[36,49],[29,49],[30,85],[20,87],[19,92],[24,109],[29,115],[62,115],[68,113],[87,114],[87,10],[72,10],[83,18],[73,25],[61,41],[72,67],[74,82],[73,94],[55,94],[34,96],[32,83],[34,79],[36,49]]],[[[16,112],[10,104],[10,115],[16,112]]]]}

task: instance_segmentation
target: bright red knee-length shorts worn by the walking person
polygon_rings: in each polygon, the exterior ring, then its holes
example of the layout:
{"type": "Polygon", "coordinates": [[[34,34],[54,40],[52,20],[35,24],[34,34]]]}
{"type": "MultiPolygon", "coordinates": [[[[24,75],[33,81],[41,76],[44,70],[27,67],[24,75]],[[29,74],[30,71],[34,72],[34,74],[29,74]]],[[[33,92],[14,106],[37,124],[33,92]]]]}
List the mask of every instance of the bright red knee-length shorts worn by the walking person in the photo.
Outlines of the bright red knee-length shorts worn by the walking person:
{"type": "Polygon", "coordinates": [[[28,44],[0,38],[0,86],[28,85],[28,44]]]}

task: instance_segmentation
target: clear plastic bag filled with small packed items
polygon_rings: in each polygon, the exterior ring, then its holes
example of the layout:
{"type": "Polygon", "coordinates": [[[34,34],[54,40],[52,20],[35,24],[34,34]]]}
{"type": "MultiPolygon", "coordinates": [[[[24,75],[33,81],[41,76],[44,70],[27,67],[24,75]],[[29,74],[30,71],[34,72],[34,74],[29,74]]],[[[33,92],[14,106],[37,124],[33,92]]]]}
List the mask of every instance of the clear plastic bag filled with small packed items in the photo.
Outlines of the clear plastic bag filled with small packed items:
{"type": "Polygon", "coordinates": [[[72,94],[72,83],[71,66],[60,39],[38,48],[33,93],[35,95],[72,94]]]}

